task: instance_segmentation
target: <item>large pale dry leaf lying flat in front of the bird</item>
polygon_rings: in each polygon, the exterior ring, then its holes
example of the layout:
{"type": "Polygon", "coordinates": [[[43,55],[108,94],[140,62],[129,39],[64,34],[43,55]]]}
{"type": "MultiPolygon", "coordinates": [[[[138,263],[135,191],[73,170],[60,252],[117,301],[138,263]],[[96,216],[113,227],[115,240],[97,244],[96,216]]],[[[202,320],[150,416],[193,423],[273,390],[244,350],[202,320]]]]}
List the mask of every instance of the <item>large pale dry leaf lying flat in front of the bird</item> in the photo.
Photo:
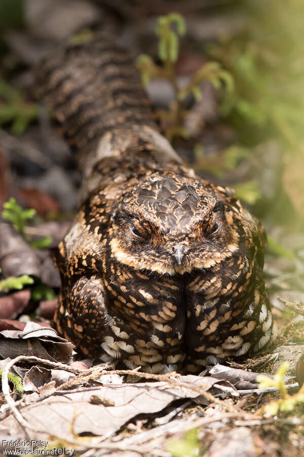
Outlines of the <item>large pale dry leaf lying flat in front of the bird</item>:
{"type": "MultiPolygon", "coordinates": [[[[180,376],[178,381],[195,385],[207,391],[216,382],[215,378],[194,375],[180,376]]],[[[95,389],[83,389],[64,395],[54,395],[46,400],[20,407],[19,411],[33,427],[45,434],[30,432],[32,439],[43,439],[50,435],[73,439],[74,435],[104,436],[119,430],[126,422],[139,414],[152,414],[163,410],[177,399],[197,398],[199,393],[169,382],[143,382],[136,384],[113,384],[95,389]],[[115,406],[92,404],[90,399],[97,396],[115,403],[115,406]],[[64,414],[62,412],[64,411],[64,414]],[[73,423],[73,427],[71,427],[73,423]]],[[[24,400],[26,402],[26,398],[24,400]]],[[[14,417],[2,421],[2,427],[16,429],[14,417]]]]}

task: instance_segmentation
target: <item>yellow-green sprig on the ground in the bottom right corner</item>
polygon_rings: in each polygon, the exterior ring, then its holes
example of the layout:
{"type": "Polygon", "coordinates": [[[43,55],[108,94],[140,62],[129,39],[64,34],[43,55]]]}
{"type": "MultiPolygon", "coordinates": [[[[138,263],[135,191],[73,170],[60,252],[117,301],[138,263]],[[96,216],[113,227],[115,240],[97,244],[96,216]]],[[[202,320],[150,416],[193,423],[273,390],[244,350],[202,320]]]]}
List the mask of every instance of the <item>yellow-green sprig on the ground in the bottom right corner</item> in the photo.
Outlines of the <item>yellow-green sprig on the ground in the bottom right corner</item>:
{"type": "Polygon", "coordinates": [[[299,391],[294,395],[289,395],[284,384],[284,376],[288,370],[289,363],[283,362],[273,378],[265,375],[258,375],[256,377],[259,383],[259,388],[264,389],[268,387],[277,387],[281,398],[267,403],[264,406],[264,411],[275,416],[279,411],[293,411],[297,404],[304,403],[304,384],[299,391]]]}

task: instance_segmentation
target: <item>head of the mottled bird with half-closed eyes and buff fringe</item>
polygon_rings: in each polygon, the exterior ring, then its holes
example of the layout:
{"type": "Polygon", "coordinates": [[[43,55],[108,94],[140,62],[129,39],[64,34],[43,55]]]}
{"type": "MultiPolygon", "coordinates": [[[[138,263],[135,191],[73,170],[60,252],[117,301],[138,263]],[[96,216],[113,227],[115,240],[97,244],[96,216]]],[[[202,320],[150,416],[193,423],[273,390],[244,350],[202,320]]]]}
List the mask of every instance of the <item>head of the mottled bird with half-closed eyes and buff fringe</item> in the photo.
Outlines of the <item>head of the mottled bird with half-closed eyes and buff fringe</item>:
{"type": "Polygon", "coordinates": [[[210,268],[231,257],[240,238],[231,204],[203,183],[155,175],[130,190],[112,217],[112,257],[169,275],[210,268]]]}

